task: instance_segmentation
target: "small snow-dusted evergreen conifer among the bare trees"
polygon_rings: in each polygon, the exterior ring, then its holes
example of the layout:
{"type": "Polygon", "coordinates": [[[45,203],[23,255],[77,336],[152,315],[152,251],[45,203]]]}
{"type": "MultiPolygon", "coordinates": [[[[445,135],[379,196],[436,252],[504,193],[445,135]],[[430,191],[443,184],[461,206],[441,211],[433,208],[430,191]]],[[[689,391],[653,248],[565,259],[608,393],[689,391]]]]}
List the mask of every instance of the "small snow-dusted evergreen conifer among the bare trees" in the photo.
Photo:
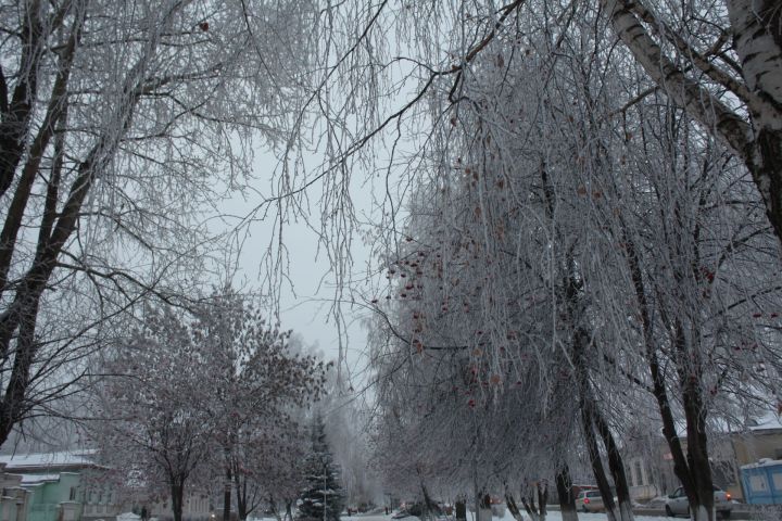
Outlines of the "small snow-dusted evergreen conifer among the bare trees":
{"type": "Polygon", "coordinates": [[[339,521],[344,504],[340,469],[326,441],[318,414],[312,425],[312,452],[304,459],[304,488],[299,505],[301,521],[339,521]]]}

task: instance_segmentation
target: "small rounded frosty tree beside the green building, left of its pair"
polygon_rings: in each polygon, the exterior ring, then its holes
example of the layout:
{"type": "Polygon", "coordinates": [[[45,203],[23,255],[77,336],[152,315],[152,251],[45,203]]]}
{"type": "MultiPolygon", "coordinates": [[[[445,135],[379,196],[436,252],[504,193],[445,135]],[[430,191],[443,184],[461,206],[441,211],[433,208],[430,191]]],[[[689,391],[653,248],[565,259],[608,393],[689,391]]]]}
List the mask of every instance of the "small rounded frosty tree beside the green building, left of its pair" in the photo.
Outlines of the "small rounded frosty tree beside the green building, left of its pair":
{"type": "Polygon", "coordinates": [[[117,346],[106,367],[114,376],[97,387],[91,425],[100,461],[137,495],[167,488],[175,521],[192,482],[211,473],[219,421],[210,407],[213,353],[180,315],[150,309],[117,346]]]}

